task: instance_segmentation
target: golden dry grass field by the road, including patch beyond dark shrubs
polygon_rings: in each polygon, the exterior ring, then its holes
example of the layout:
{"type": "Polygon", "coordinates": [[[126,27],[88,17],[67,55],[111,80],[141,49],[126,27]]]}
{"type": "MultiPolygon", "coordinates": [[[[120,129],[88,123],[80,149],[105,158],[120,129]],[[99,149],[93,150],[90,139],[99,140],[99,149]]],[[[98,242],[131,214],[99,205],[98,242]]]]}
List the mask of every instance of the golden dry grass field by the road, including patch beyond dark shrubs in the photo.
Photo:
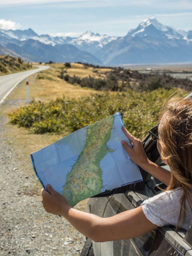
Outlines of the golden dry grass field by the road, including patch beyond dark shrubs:
{"type": "MultiPolygon", "coordinates": [[[[41,71],[35,74],[35,82],[33,82],[33,76],[29,77],[29,98],[36,100],[54,100],[62,97],[67,98],[79,98],[88,96],[95,92],[92,89],[82,88],[79,85],[72,85],[67,83],[63,79],[58,78],[63,64],[51,64],[51,68],[45,71],[41,71]]],[[[71,68],[67,69],[67,74],[70,76],[78,75],[79,77],[98,77],[98,73],[93,72],[93,68],[83,68],[82,64],[71,64],[71,68]]],[[[103,73],[108,69],[98,69],[101,76],[105,76],[103,73]]],[[[98,91],[97,91],[98,92],[98,91]]],[[[24,100],[26,99],[26,82],[23,80],[14,91],[8,96],[8,100],[24,100]]]]}

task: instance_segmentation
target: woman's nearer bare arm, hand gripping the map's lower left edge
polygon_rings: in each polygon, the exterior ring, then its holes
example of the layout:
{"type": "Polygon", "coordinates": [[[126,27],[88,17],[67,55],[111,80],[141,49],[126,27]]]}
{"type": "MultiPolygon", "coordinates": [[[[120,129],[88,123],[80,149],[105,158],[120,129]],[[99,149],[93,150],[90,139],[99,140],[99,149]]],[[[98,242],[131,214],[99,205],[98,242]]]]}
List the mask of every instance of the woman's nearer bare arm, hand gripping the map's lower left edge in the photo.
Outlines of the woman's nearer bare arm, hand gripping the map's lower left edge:
{"type": "Polygon", "coordinates": [[[142,206],[121,212],[113,217],[101,218],[69,206],[64,198],[50,185],[42,189],[42,203],[46,212],[62,215],[79,232],[95,242],[122,240],[142,236],[154,230],[157,225],[149,221],[142,206]]]}

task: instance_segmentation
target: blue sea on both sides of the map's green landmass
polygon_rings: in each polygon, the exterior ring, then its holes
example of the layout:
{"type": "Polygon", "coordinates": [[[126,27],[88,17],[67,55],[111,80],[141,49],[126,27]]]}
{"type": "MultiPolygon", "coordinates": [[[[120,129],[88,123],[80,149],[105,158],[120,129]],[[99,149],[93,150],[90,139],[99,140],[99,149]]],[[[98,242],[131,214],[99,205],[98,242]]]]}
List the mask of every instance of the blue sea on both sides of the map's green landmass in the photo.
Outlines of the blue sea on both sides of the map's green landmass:
{"type": "MultiPolygon", "coordinates": [[[[121,141],[125,140],[131,146],[122,131],[123,121],[120,113],[114,114],[114,117],[110,140],[107,142],[107,148],[110,151],[100,162],[103,180],[101,192],[142,180],[139,167],[131,161],[121,144],[121,141]]],[[[87,127],[75,131],[31,155],[35,173],[44,188],[47,184],[51,184],[55,191],[62,193],[66,176],[84,149],[87,127]]],[[[76,173],[74,179],[79,178],[80,173],[76,173]]]]}

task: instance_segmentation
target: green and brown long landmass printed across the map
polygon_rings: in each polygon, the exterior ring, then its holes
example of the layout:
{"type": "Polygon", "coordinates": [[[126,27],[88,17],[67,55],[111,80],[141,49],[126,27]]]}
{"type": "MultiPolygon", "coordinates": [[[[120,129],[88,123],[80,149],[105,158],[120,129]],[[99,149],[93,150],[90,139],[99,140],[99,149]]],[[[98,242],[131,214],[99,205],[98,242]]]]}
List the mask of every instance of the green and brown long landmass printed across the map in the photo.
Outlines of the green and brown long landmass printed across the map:
{"type": "Polygon", "coordinates": [[[84,149],[67,174],[62,191],[63,197],[71,206],[102,192],[100,162],[107,152],[114,152],[107,147],[114,119],[113,115],[86,128],[84,149]]]}

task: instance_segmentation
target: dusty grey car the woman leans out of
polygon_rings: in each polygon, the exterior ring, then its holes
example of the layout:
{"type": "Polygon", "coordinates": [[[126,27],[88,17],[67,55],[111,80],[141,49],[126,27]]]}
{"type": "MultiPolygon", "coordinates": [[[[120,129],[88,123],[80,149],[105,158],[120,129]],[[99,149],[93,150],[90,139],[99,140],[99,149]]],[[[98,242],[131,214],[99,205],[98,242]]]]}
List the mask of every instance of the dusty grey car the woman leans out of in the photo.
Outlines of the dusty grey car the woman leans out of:
{"type": "MultiPolygon", "coordinates": [[[[157,128],[157,126],[156,126],[157,128]]],[[[158,128],[157,128],[158,129],[158,128]]],[[[157,143],[150,134],[143,140],[147,157],[170,171],[160,158],[157,143]]],[[[142,182],[137,182],[112,191],[105,191],[91,197],[86,204],[86,212],[100,217],[111,217],[141,205],[166,188],[166,185],[140,168],[142,182]]],[[[94,242],[86,238],[81,256],[124,256],[124,255],[192,255],[192,220],[187,230],[174,230],[173,226],[158,227],[133,239],[110,242],[94,242]]]]}

